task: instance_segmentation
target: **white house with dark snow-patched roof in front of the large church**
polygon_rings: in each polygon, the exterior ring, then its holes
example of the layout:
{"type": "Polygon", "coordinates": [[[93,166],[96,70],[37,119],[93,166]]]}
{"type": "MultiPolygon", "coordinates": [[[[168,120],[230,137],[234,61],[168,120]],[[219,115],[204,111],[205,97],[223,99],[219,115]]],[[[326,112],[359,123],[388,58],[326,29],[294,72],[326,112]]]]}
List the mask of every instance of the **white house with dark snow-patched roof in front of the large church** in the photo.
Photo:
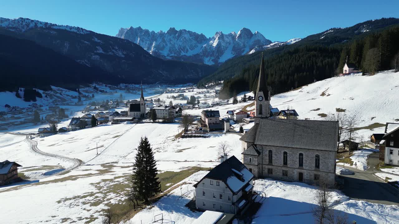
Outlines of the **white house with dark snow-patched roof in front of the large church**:
{"type": "Polygon", "coordinates": [[[235,156],[221,163],[194,185],[196,208],[242,214],[253,198],[254,175],[235,156]]]}

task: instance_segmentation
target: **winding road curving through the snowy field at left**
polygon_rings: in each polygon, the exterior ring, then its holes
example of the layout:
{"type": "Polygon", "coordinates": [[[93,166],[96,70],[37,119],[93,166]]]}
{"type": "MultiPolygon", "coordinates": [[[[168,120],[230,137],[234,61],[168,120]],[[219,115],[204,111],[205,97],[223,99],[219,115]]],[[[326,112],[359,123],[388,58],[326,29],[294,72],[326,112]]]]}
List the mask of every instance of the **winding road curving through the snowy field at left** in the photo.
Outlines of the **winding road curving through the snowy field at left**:
{"type": "Polygon", "coordinates": [[[35,140],[32,140],[30,138],[29,134],[20,134],[20,133],[12,133],[12,132],[4,132],[6,134],[12,134],[12,135],[16,135],[16,136],[26,136],[25,141],[27,141],[30,145],[30,149],[32,149],[32,151],[40,154],[40,155],[45,155],[45,156],[50,156],[50,157],[55,157],[55,158],[59,158],[59,159],[63,159],[63,160],[69,160],[73,162],[73,166],[58,172],[58,173],[54,173],[52,175],[46,175],[44,177],[40,177],[40,178],[36,178],[36,179],[43,179],[43,178],[47,178],[47,177],[51,177],[51,176],[55,176],[55,175],[61,175],[63,173],[66,173],[68,171],[71,171],[73,169],[75,169],[76,167],[79,167],[80,165],[83,164],[83,161],[81,161],[80,159],[75,159],[75,158],[70,158],[70,157],[66,157],[66,156],[62,156],[62,155],[55,155],[55,154],[51,154],[51,153],[46,153],[43,151],[40,151],[40,149],[38,148],[38,142],[35,140]]]}

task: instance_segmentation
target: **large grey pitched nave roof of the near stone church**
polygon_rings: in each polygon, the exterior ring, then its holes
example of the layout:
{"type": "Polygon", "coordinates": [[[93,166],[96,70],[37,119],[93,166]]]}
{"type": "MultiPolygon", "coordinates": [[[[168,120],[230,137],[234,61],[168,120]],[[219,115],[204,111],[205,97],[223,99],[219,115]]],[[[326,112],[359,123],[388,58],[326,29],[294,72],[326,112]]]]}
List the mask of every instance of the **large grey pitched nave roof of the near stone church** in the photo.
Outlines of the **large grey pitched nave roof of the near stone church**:
{"type": "Polygon", "coordinates": [[[240,140],[255,145],[336,151],[338,122],[260,118],[240,140]]]}

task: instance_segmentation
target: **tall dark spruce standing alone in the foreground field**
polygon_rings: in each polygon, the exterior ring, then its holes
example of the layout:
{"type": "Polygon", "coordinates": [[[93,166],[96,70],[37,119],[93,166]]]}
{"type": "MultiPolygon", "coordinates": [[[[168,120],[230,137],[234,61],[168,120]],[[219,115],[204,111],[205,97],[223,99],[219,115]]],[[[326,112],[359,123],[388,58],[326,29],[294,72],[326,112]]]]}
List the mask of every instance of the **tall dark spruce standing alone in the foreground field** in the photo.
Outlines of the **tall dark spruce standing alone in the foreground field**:
{"type": "Polygon", "coordinates": [[[137,193],[138,200],[148,202],[161,191],[157,173],[158,169],[150,142],[147,137],[141,137],[132,174],[132,189],[137,193]]]}

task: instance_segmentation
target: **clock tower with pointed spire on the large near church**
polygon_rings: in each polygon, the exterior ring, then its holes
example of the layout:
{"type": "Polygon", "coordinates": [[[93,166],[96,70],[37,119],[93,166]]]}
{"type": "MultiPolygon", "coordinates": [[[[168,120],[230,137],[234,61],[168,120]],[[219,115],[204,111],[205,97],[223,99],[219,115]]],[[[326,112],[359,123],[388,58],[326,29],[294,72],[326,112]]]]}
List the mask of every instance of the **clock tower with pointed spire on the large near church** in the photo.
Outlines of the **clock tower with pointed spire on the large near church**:
{"type": "Polygon", "coordinates": [[[270,91],[267,89],[267,77],[265,74],[265,65],[263,62],[263,53],[261,68],[259,71],[258,88],[255,92],[255,117],[268,118],[270,117],[270,91]]]}

